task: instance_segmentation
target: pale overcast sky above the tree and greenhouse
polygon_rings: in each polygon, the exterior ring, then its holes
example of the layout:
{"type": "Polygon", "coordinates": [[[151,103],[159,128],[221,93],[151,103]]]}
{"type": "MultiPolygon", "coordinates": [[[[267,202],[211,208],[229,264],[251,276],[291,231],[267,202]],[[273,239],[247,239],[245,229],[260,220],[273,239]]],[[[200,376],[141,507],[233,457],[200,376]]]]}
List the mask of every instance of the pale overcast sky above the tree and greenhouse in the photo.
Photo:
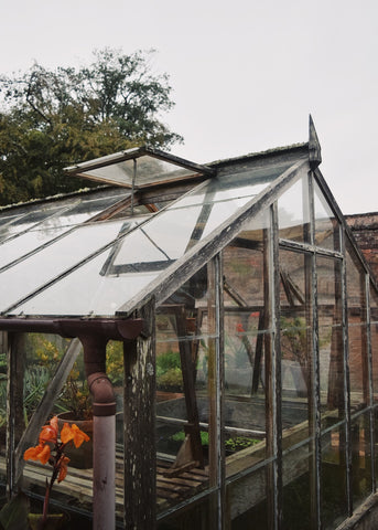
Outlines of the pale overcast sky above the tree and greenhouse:
{"type": "Polygon", "coordinates": [[[209,162],[307,141],[344,213],[378,211],[378,1],[0,0],[0,73],[155,49],[172,149],[209,162]]]}

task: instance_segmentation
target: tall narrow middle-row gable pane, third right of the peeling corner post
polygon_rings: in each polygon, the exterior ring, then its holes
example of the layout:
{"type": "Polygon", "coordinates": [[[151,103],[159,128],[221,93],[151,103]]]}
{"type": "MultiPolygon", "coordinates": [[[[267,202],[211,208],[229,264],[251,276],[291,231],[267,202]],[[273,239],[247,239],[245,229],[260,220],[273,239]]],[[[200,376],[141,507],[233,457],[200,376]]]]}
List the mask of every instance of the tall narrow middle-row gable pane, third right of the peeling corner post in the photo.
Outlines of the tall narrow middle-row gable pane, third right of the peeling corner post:
{"type": "Polygon", "coordinates": [[[310,257],[280,251],[280,273],[282,426],[298,425],[301,438],[306,438],[314,417],[309,407],[313,373],[310,257]]]}

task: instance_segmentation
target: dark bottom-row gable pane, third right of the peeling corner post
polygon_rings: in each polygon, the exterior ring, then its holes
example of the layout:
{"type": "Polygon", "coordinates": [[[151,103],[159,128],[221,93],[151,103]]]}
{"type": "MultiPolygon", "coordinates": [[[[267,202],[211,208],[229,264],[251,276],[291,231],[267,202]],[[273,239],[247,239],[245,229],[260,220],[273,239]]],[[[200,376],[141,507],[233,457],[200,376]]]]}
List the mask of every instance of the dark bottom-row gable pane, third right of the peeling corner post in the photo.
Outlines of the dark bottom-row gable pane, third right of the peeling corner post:
{"type": "Polygon", "coordinates": [[[316,490],[313,479],[314,457],[311,444],[289,451],[283,456],[282,529],[315,528],[316,490]]]}

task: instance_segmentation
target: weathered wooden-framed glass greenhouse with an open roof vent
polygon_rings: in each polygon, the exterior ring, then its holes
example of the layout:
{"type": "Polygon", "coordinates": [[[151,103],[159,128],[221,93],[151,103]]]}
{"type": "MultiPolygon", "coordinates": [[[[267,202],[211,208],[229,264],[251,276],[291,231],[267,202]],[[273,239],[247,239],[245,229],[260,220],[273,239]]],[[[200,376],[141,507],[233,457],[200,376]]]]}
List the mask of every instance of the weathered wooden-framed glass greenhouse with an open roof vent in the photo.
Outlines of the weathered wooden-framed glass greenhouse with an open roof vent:
{"type": "Polygon", "coordinates": [[[3,505],[42,512],[52,467],[24,455],[57,416],[89,437],[51,490],[67,528],[371,511],[378,290],[320,163],[310,118],[305,144],[130,149],[67,168],[95,187],[0,210],[3,505]]]}

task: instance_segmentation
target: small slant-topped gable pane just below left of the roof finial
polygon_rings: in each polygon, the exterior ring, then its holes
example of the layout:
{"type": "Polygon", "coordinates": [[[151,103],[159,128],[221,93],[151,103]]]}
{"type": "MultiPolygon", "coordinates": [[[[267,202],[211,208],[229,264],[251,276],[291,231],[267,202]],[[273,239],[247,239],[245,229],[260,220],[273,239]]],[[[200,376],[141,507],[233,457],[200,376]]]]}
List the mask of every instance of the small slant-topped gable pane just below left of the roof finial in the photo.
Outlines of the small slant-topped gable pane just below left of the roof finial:
{"type": "Polygon", "coordinates": [[[278,200],[280,237],[310,242],[309,179],[304,174],[278,200]]]}

